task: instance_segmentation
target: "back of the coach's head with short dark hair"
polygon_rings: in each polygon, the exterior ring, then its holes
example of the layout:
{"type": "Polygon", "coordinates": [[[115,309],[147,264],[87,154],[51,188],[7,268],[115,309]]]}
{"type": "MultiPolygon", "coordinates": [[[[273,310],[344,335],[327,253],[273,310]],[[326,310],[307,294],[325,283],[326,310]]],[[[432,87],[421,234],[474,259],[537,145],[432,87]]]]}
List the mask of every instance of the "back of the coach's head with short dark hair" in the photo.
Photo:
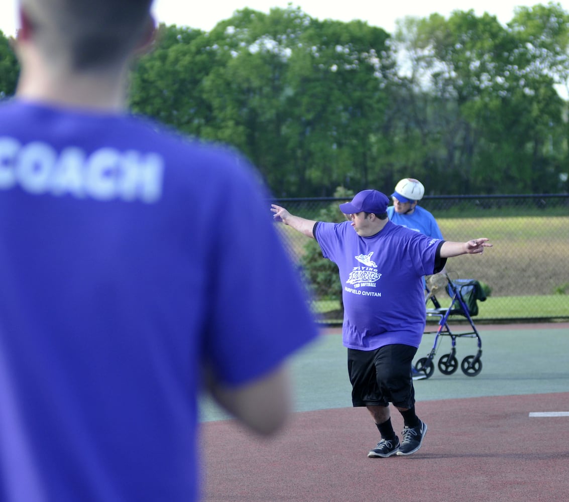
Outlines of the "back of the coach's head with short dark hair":
{"type": "Polygon", "coordinates": [[[36,45],[73,70],[120,64],[142,38],[152,0],[20,0],[36,45]]]}

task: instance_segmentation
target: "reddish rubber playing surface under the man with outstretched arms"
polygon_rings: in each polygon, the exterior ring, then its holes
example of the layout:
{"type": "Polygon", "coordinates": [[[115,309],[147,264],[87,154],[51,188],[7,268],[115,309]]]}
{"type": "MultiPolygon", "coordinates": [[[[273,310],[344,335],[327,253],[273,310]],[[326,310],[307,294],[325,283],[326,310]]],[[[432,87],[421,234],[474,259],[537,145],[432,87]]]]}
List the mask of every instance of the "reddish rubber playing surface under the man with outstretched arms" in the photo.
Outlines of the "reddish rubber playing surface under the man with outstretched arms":
{"type": "MultiPolygon", "coordinates": [[[[294,413],[270,439],[206,422],[204,500],[566,502],[569,417],[529,413],[569,412],[569,378],[567,389],[422,401],[428,432],[408,457],[367,457],[379,438],[364,408],[294,413]]],[[[392,421],[400,432],[401,416],[392,421]]]]}

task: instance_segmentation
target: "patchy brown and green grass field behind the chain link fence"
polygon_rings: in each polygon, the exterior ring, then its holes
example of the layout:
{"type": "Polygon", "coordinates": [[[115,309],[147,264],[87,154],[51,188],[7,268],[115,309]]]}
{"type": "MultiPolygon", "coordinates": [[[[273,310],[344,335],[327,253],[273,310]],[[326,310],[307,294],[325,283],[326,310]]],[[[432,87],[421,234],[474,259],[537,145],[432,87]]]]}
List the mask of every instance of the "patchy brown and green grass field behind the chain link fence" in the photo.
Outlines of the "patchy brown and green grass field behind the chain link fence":
{"type": "MultiPolygon", "coordinates": [[[[488,237],[494,245],[484,256],[457,256],[446,266],[451,279],[476,279],[490,288],[477,319],[569,318],[569,216],[435,217],[447,240],[488,237]]],[[[297,261],[306,253],[307,238],[284,225],[278,229],[297,261]]],[[[339,308],[335,300],[314,304],[325,320],[340,321],[339,308]]]]}

